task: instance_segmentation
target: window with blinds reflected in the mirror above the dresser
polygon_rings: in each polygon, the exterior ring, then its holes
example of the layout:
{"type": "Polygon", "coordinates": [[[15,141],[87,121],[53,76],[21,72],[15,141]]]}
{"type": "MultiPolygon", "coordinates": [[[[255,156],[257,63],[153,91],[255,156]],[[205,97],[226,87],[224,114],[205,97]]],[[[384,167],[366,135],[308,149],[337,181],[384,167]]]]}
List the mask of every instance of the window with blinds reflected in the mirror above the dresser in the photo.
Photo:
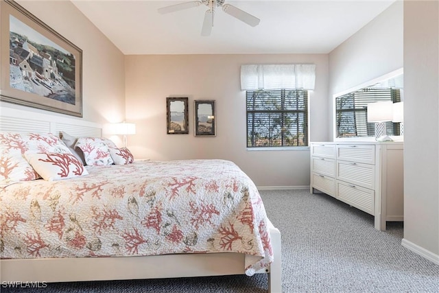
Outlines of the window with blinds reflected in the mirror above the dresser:
{"type": "MultiPolygon", "coordinates": [[[[399,89],[359,89],[335,98],[337,137],[370,137],[375,124],[367,121],[367,105],[374,102],[401,102],[399,89]]],[[[387,135],[399,133],[399,123],[386,122],[387,135]]]]}

